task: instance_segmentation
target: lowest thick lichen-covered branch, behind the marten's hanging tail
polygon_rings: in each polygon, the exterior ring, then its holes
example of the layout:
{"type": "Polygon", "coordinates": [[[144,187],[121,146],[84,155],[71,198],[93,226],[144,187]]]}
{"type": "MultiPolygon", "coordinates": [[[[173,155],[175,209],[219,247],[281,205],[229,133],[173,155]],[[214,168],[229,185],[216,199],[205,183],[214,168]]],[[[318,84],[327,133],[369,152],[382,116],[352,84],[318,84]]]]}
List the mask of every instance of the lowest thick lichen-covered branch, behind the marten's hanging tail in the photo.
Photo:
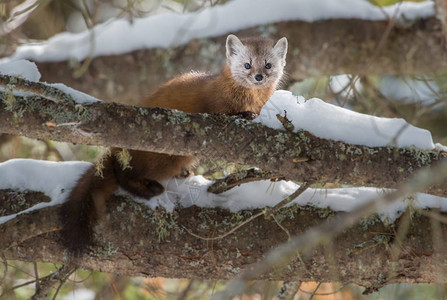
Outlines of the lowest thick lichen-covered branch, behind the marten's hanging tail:
{"type": "MultiPolygon", "coordinates": [[[[30,200],[33,194],[24,197],[30,200]]],[[[18,238],[19,242],[3,252],[5,258],[67,263],[59,236],[53,232],[60,228],[58,209],[52,206],[22,214],[1,225],[9,232],[3,231],[0,237],[11,236],[11,231],[24,235],[33,226],[28,220],[45,220],[38,225],[41,232],[27,234],[27,240],[18,238]],[[43,233],[46,231],[49,233],[43,233]]],[[[96,229],[94,245],[78,263],[87,269],[128,276],[230,279],[287,241],[289,234],[300,234],[343,216],[328,209],[293,206],[279,210],[274,215],[276,221],[261,216],[223,239],[204,241],[187,231],[216,237],[257,212],[188,207],[171,214],[114,197],[96,229]]],[[[343,234],[326,237],[331,242],[324,247],[303,256],[297,253],[284,267],[257,279],[340,281],[370,290],[398,282],[446,282],[441,269],[447,259],[447,225],[424,216],[427,213],[406,212],[391,226],[384,225],[375,214],[365,217],[343,234]]]]}

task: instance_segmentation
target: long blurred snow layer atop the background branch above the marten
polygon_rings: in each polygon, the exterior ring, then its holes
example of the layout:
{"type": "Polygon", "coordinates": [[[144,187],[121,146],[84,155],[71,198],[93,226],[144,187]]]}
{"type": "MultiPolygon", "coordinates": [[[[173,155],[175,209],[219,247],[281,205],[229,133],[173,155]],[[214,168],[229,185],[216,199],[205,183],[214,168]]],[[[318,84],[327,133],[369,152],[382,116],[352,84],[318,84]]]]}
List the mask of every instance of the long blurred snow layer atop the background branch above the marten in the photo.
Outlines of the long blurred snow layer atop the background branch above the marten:
{"type": "Polygon", "coordinates": [[[63,32],[45,42],[25,44],[0,61],[83,60],[89,56],[122,54],[138,49],[169,48],[195,38],[219,36],[252,26],[281,21],[326,19],[404,20],[434,16],[434,2],[402,2],[377,7],[361,0],[230,1],[196,13],[164,13],[146,18],[115,19],[81,33],[63,32]],[[94,40],[92,44],[91,41],[94,40]]]}

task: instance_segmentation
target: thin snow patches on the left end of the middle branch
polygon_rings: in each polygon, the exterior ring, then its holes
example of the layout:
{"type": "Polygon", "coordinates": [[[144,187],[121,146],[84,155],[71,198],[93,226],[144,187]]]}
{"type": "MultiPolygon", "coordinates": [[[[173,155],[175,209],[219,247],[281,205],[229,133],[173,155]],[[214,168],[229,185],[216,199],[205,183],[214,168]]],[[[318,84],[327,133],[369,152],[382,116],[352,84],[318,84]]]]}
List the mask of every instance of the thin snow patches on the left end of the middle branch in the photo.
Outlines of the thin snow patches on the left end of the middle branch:
{"type": "MultiPolygon", "coordinates": [[[[37,69],[36,64],[24,59],[19,59],[16,61],[0,62],[0,74],[8,76],[17,76],[32,82],[39,82],[41,76],[39,70],[37,69]]],[[[63,91],[64,93],[70,95],[74,101],[80,104],[100,101],[95,97],[77,91],[75,89],[72,89],[62,83],[46,83],[46,82],[41,83],[63,91]]],[[[0,91],[2,90],[3,88],[0,88],[0,91]]],[[[26,96],[28,95],[28,93],[14,91],[14,95],[26,96]]]]}

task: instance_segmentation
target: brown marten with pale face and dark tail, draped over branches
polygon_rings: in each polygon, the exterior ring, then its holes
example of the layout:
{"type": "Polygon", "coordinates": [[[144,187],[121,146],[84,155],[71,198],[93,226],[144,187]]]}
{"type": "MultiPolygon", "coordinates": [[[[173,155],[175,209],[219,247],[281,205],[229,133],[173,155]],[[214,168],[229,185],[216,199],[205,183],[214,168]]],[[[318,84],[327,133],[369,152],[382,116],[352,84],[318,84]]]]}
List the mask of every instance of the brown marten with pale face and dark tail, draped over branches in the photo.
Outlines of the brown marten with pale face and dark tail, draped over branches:
{"type": "MultiPolygon", "coordinates": [[[[226,66],[218,75],[190,72],[155,90],[140,105],[178,109],[188,113],[259,114],[276,90],[286,64],[287,39],[226,40],[226,66]]],[[[93,229],[106,201],[118,186],[150,199],[164,191],[161,180],[178,176],[196,162],[194,157],[129,150],[128,166],[122,166],[112,149],[103,158],[102,176],[92,166],[81,176],[61,208],[62,242],[73,255],[91,244],[93,229]]]]}

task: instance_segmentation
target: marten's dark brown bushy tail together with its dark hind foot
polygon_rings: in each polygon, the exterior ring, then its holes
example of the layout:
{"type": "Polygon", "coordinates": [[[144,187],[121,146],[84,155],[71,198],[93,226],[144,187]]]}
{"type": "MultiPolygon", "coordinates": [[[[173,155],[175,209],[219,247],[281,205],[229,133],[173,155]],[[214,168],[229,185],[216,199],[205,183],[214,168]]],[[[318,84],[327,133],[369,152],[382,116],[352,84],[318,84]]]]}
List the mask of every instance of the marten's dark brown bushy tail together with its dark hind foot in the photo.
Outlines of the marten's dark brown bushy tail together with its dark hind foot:
{"type": "MultiPolygon", "coordinates": [[[[114,149],[114,152],[119,149],[114,149]]],[[[79,257],[93,242],[95,225],[105,213],[106,202],[115,193],[118,184],[130,193],[150,199],[164,191],[155,180],[138,178],[130,169],[123,170],[115,155],[103,159],[102,176],[96,175],[96,167],[90,167],[62,204],[61,243],[71,256],[79,257]]],[[[139,175],[139,174],[138,174],[139,175]]]]}

